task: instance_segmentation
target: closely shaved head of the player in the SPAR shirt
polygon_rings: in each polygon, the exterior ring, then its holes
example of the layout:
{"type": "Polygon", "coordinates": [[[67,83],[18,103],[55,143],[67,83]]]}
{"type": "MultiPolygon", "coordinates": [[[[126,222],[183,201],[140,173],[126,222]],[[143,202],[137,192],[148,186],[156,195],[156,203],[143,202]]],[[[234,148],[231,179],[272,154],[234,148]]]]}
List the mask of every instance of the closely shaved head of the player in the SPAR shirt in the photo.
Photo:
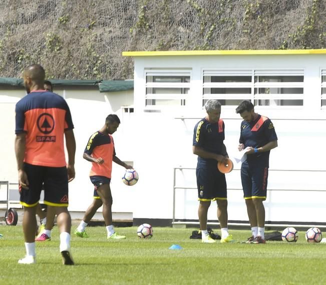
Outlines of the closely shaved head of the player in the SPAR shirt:
{"type": "Polygon", "coordinates": [[[40,64],[31,64],[24,69],[24,85],[27,92],[44,89],[45,70],[40,64]]]}

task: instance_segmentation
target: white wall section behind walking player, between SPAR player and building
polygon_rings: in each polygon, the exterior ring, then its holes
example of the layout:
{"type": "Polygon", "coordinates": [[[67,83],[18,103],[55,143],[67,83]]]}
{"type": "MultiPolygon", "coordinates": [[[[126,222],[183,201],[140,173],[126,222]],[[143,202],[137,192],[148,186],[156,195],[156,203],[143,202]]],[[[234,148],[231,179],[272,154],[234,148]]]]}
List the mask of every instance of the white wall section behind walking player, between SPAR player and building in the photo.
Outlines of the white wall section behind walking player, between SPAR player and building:
{"type": "MultiPolygon", "coordinates": [[[[92,202],[94,187],[89,179],[91,163],[83,158],[85,146],[89,137],[99,130],[105,123],[105,118],[110,113],[116,113],[121,119],[121,125],[113,134],[117,156],[122,160],[133,160],[132,153],[125,151],[124,133],[128,125],[128,117],[122,112],[121,106],[132,105],[133,92],[110,92],[66,90],[66,100],[75,125],[76,136],[76,178],[70,185],[69,210],[84,211],[92,202]]],[[[130,187],[121,182],[124,168],[114,163],[112,171],[112,211],[132,211],[126,205],[126,195],[130,196],[130,187]]]]}

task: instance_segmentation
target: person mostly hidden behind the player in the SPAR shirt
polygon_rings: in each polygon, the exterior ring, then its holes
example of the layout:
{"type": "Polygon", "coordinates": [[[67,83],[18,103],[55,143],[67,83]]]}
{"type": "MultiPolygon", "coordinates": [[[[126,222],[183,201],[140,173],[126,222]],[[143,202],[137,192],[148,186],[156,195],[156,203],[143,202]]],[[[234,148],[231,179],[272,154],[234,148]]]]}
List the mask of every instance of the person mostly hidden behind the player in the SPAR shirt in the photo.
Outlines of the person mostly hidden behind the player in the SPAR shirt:
{"type": "MultiPolygon", "coordinates": [[[[51,81],[44,80],[44,89],[53,92],[51,81]]],[[[44,190],[44,185],[43,185],[44,190]]],[[[51,240],[51,231],[56,216],[56,210],[52,206],[47,206],[47,212],[42,210],[40,203],[36,206],[36,214],[40,217],[40,233],[35,238],[36,241],[51,240]]]]}

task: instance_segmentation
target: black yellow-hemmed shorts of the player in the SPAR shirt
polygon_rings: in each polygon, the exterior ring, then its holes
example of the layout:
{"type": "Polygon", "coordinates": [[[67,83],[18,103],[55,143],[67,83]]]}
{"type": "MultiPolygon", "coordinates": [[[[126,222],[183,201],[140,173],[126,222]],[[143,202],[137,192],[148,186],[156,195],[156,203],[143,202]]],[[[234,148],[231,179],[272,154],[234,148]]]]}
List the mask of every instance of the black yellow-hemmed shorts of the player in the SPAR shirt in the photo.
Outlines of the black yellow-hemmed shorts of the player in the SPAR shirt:
{"type": "Polygon", "coordinates": [[[44,183],[44,203],[50,206],[68,207],[68,172],[66,166],[49,167],[24,162],[24,170],[29,180],[29,189],[19,187],[22,205],[27,207],[37,205],[44,183]]]}

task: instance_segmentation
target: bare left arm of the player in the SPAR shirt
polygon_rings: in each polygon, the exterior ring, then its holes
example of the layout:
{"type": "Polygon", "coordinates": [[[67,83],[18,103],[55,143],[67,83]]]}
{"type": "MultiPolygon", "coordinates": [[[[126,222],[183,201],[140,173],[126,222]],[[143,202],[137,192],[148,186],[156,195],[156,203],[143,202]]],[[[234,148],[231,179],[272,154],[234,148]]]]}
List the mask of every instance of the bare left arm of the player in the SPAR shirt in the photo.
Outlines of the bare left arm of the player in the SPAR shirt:
{"type": "Polygon", "coordinates": [[[16,160],[18,166],[18,181],[23,188],[28,189],[29,180],[23,168],[25,147],[26,147],[26,133],[24,132],[24,133],[17,134],[15,139],[15,152],[16,152],[16,160]]]}

